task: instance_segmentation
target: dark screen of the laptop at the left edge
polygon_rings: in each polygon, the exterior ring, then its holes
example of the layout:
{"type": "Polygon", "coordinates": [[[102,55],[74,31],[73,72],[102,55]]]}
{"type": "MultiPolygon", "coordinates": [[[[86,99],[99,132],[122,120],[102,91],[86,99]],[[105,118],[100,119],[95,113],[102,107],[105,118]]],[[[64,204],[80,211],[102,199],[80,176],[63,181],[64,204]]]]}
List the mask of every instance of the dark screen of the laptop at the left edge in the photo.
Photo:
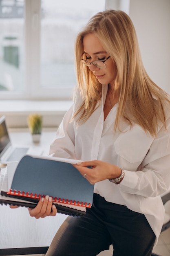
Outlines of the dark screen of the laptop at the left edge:
{"type": "Polygon", "coordinates": [[[11,145],[5,118],[0,118],[0,155],[2,151],[11,145]]]}

